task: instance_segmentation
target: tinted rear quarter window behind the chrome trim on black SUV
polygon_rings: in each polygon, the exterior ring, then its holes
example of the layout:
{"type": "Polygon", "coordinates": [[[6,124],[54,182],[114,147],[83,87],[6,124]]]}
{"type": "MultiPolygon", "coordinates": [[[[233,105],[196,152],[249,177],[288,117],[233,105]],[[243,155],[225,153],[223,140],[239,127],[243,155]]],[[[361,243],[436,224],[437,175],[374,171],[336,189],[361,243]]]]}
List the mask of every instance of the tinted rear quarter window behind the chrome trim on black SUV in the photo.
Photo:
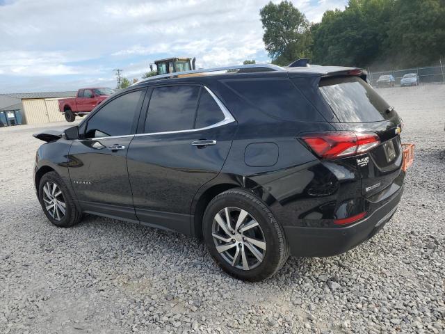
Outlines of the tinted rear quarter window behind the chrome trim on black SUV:
{"type": "Polygon", "coordinates": [[[234,80],[225,84],[270,116],[285,120],[323,120],[289,79],[234,80]]]}

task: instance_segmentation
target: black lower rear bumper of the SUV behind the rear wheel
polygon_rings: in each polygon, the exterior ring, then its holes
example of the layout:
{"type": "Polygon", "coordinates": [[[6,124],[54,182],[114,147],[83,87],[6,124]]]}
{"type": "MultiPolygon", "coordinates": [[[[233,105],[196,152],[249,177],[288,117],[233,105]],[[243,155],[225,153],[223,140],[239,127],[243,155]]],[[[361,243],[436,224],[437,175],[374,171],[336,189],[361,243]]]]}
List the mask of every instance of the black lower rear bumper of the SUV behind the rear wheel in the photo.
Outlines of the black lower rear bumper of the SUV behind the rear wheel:
{"type": "Polygon", "coordinates": [[[379,232],[396,212],[403,187],[372,214],[344,228],[307,228],[286,226],[284,232],[292,256],[333,256],[345,253],[379,232]]]}

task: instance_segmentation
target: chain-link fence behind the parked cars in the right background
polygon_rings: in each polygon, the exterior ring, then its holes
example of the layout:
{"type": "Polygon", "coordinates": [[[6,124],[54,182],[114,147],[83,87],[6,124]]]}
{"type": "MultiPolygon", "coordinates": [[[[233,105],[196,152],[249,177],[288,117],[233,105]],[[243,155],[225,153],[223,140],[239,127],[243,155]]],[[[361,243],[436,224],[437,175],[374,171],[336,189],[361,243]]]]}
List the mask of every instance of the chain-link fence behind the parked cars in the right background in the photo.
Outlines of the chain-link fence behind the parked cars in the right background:
{"type": "Polygon", "coordinates": [[[402,77],[407,73],[416,73],[419,77],[420,84],[426,83],[438,83],[445,84],[445,64],[440,61],[439,66],[430,66],[430,67],[414,67],[407,68],[405,70],[390,70],[384,72],[371,72],[368,70],[369,80],[371,84],[375,86],[375,82],[378,80],[380,75],[389,75],[391,74],[394,79],[396,79],[396,85],[401,84],[402,77]]]}

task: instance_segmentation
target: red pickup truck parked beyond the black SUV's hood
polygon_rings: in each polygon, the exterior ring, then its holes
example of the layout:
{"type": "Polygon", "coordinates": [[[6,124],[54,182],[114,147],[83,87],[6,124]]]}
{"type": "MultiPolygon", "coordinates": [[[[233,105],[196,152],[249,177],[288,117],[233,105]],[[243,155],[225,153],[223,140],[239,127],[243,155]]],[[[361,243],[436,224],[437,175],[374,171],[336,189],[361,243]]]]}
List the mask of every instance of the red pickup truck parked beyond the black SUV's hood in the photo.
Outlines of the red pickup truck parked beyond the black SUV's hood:
{"type": "Polygon", "coordinates": [[[83,117],[113,93],[111,88],[82,88],[76,97],[58,100],[58,109],[65,114],[65,120],[74,122],[76,116],[83,117]]]}

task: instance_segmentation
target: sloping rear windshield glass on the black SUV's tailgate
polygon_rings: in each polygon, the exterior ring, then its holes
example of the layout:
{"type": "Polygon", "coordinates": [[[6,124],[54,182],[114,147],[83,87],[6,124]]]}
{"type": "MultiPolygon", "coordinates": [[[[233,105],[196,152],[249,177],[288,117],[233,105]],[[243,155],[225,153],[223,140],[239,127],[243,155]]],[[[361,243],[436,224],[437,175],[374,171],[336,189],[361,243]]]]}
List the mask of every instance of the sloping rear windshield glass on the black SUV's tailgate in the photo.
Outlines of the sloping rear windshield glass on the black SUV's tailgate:
{"type": "Polygon", "coordinates": [[[378,122],[391,117],[389,104],[359,77],[323,78],[319,87],[340,122],[378,122]]]}

